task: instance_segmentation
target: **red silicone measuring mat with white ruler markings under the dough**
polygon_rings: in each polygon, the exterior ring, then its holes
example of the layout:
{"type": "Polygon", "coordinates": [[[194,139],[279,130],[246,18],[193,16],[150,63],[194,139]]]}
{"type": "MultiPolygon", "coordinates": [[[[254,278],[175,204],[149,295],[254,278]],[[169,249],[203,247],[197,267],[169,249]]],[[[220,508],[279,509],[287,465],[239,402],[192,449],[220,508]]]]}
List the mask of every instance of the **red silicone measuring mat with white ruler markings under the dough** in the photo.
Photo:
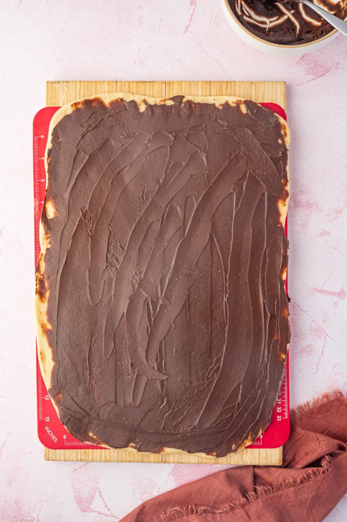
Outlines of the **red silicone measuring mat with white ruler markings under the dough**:
{"type": "MultiPolygon", "coordinates": [[[[276,103],[261,103],[269,109],[277,112],[286,120],[284,110],[276,103]]],[[[45,107],[41,109],[33,120],[33,167],[34,167],[34,231],[35,231],[35,267],[40,255],[40,218],[46,192],[46,172],[44,156],[47,143],[47,134],[53,114],[59,107],[45,107]]],[[[285,231],[287,233],[287,222],[285,231]]],[[[41,375],[38,353],[36,352],[37,365],[37,400],[38,400],[38,434],[44,446],[51,449],[68,448],[100,448],[94,444],[83,443],[73,437],[59,420],[57,412],[52,404],[47,388],[41,375]]],[[[284,379],[281,392],[272,410],[270,424],[249,448],[277,448],[282,446],[289,436],[289,357],[284,365],[284,379]]]]}

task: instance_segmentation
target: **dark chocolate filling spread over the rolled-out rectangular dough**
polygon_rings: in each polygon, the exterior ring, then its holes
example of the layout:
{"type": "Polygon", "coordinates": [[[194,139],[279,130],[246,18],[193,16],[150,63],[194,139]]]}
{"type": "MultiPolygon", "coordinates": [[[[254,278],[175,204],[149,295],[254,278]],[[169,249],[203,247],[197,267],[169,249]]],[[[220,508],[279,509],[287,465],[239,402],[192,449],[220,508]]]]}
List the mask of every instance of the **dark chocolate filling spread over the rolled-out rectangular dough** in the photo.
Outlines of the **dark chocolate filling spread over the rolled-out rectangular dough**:
{"type": "Polygon", "coordinates": [[[172,102],[85,100],[53,129],[49,393],[79,440],[224,456],[282,382],[288,151],[254,102],[172,102]]]}

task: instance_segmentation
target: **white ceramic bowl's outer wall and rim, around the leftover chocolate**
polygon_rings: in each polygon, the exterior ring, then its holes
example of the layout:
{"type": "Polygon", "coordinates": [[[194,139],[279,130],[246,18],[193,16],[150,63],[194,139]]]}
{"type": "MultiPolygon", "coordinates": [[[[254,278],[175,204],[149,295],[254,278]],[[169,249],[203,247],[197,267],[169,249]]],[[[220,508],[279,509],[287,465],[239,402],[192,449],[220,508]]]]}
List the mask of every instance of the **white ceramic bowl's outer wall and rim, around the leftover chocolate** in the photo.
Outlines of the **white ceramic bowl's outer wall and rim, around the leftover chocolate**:
{"type": "Polygon", "coordinates": [[[278,56],[301,55],[322,47],[323,45],[331,42],[331,40],[337,35],[337,30],[334,29],[323,38],[319,38],[313,42],[303,43],[301,45],[281,45],[279,43],[267,42],[266,40],[262,40],[255,34],[248,31],[248,29],[246,29],[242,23],[237,20],[228,0],[221,0],[221,3],[224,15],[226,16],[226,19],[230,23],[231,27],[234,29],[235,33],[243,38],[245,42],[253,45],[253,47],[259,51],[264,51],[265,53],[277,54],[278,56]]]}

